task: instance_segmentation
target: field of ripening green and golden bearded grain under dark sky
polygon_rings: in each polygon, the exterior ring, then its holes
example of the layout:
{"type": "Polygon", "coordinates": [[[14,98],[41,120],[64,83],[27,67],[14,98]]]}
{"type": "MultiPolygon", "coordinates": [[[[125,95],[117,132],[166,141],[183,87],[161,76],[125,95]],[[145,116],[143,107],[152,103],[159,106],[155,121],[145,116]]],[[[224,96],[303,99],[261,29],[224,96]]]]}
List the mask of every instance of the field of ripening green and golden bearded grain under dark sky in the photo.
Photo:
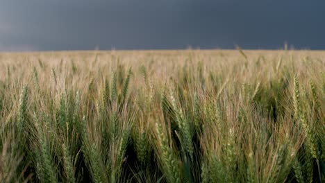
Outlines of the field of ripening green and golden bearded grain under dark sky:
{"type": "Polygon", "coordinates": [[[324,182],[325,51],[0,54],[0,182],[324,182]]]}

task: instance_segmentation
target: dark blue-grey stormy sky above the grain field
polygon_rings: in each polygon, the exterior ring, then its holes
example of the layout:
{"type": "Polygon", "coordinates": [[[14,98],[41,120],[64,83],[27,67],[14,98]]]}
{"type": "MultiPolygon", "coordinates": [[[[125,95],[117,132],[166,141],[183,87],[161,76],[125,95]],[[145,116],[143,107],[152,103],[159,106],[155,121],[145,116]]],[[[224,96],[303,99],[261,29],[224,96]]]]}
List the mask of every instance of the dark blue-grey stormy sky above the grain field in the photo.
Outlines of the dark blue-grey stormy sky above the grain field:
{"type": "Polygon", "coordinates": [[[322,0],[3,0],[0,51],[325,49],[322,0]]]}

